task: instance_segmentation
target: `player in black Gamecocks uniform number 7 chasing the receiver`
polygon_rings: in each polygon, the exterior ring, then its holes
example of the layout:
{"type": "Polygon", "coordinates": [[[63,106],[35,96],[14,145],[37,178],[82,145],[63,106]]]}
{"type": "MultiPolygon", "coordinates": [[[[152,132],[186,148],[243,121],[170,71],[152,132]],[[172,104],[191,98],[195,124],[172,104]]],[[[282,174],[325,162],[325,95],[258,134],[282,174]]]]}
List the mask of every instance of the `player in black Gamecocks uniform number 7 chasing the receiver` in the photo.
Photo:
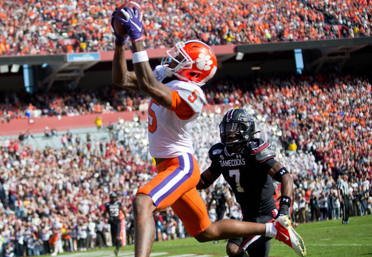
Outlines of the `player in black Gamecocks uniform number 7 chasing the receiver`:
{"type": "MultiPolygon", "coordinates": [[[[222,174],[241,206],[243,221],[266,223],[274,217],[288,215],[293,178],[274,160],[275,152],[270,144],[254,138],[254,128],[253,118],[242,109],[232,109],[224,115],[219,125],[221,143],[209,150],[212,163],[202,173],[196,189],[208,188],[222,174]],[[279,212],[270,176],[282,183],[279,212]]],[[[250,257],[268,257],[270,239],[259,236],[231,239],[226,251],[229,257],[243,256],[243,249],[250,257]]]]}

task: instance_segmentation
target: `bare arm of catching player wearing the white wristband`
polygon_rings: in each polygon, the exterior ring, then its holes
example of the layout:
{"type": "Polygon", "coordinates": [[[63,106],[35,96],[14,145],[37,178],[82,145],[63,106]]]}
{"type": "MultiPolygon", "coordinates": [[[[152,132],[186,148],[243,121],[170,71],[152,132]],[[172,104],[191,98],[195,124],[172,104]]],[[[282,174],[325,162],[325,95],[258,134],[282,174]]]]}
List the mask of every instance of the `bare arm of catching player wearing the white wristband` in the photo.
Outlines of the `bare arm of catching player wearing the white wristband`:
{"type": "MultiPolygon", "coordinates": [[[[144,51],[142,41],[134,42],[133,53],[144,51]]],[[[153,98],[158,104],[170,108],[172,106],[172,94],[169,87],[155,79],[153,70],[148,61],[134,64],[135,75],[138,78],[138,86],[141,91],[153,98]]]]}

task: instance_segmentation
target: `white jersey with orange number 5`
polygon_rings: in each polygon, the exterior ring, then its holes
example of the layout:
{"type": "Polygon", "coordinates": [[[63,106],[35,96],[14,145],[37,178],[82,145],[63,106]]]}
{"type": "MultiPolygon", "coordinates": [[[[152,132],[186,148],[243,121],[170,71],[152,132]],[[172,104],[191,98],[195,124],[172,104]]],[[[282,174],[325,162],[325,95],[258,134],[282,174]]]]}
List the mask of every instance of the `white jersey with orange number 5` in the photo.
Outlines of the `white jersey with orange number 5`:
{"type": "MultiPolygon", "coordinates": [[[[161,65],[156,66],[154,75],[159,82],[167,77],[161,65]]],[[[150,154],[155,158],[174,158],[182,153],[194,154],[190,132],[201,114],[205,95],[200,87],[190,82],[173,80],[165,85],[170,90],[177,91],[195,114],[188,120],[182,120],[174,111],[150,98],[147,110],[150,154]]]]}

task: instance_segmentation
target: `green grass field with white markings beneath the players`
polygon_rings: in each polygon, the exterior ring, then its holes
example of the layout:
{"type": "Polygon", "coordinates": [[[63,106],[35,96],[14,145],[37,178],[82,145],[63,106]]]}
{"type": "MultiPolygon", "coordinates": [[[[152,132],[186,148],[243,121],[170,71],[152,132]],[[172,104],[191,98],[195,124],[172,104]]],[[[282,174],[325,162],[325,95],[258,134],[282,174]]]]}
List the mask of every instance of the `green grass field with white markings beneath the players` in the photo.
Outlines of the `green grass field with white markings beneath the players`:
{"type": "MultiPolygon", "coordinates": [[[[341,220],[321,221],[299,225],[296,231],[304,238],[307,247],[307,256],[310,257],[356,257],[372,256],[372,215],[351,217],[350,224],[343,225],[341,220]]],[[[174,241],[155,242],[151,253],[160,253],[158,256],[171,257],[174,255],[211,254],[215,257],[226,256],[224,241],[218,244],[213,242],[199,243],[194,238],[186,238],[174,241]]],[[[113,249],[113,248],[112,248],[113,249]]],[[[121,252],[128,251],[126,256],[132,257],[129,252],[134,250],[133,245],[121,248],[121,252]]],[[[86,251],[81,254],[73,254],[79,257],[98,256],[96,251],[86,251]]],[[[109,256],[106,253],[99,256],[109,256]]],[[[62,256],[59,254],[58,256],[62,256]]],[[[113,253],[112,253],[112,256],[113,253]]],[[[291,257],[297,256],[287,245],[272,240],[270,256],[291,257]]],[[[186,256],[184,256],[186,257],[186,256]]],[[[198,257],[198,256],[195,256],[198,257]]],[[[206,256],[203,256],[206,257],[206,256]]]]}

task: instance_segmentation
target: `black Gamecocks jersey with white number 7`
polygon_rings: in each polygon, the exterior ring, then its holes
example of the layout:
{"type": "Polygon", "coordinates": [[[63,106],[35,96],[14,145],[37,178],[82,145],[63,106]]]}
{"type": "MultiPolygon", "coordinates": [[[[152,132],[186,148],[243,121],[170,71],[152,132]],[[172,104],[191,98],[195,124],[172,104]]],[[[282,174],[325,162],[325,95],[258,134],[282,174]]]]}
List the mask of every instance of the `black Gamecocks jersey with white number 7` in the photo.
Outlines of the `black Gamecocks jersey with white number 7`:
{"type": "Polygon", "coordinates": [[[232,154],[228,153],[224,144],[217,143],[209,149],[208,154],[212,160],[209,171],[215,176],[224,176],[243,213],[252,214],[275,208],[275,189],[267,172],[276,161],[269,143],[253,139],[242,152],[232,154]]]}

